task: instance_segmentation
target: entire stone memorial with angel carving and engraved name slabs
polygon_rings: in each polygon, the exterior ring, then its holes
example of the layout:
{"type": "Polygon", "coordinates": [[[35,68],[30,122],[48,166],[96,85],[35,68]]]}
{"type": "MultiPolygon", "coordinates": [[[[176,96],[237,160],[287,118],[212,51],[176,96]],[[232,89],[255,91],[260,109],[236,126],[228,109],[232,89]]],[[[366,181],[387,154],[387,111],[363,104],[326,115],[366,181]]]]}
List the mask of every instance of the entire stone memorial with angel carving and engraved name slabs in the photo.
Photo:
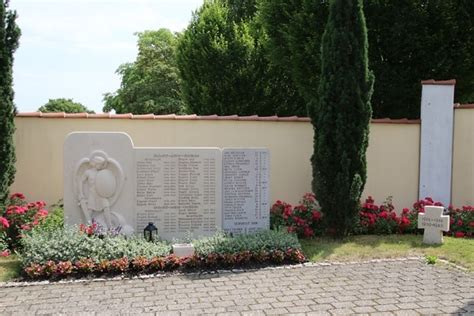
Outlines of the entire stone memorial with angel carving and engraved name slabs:
{"type": "Polygon", "coordinates": [[[68,224],[161,238],[269,229],[269,152],[263,148],[137,148],[125,133],[75,132],[64,144],[68,224]]]}

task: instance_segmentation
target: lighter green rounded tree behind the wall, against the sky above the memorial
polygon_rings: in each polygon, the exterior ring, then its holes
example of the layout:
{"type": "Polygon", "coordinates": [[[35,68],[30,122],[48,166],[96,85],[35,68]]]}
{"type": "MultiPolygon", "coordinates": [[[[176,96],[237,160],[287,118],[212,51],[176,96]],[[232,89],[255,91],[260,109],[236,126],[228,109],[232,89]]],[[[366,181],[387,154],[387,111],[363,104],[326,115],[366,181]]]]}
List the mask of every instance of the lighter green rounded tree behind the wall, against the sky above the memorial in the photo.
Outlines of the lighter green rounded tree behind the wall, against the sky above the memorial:
{"type": "Polygon", "coordinates": [[[104,96],[104,112],[134,114],[184,114],[180,79],[176,66],[178,35],[168,29],[145,31],[138,35],[135,62],[122,64],[117,73],[120,88],[104,96]]]}

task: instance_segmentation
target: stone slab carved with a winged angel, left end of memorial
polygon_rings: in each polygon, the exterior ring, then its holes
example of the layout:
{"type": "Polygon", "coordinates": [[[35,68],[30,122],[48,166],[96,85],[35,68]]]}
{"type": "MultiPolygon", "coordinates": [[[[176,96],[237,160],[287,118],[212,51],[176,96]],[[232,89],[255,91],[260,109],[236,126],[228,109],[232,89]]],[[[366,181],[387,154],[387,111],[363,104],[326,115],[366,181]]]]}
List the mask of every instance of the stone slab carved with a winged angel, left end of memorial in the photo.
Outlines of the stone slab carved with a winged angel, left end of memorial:
{"type": "Polygon", "coordinates": [[[125,133],[74,132],[64,143],[67,224],[96,219],[103,226],[135,227],[133,143],[125,133]],[[108,215],[109,214],[109,215],[108,215]]]}

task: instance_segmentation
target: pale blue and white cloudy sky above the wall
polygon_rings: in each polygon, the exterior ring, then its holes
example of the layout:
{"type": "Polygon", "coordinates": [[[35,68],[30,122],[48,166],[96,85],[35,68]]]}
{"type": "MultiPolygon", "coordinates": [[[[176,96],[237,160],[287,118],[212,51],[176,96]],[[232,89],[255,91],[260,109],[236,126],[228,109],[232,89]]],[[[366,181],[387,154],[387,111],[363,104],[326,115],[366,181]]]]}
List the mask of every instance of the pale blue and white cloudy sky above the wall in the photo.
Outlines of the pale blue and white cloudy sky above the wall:
{"type": "Polygon", "coordinates": [[[136,32],[182,31],[203,0],[11,0],[22,36],[14,55],[15,104],[36,111],[68,98],[96,113],[136,58],[136,32]]]}

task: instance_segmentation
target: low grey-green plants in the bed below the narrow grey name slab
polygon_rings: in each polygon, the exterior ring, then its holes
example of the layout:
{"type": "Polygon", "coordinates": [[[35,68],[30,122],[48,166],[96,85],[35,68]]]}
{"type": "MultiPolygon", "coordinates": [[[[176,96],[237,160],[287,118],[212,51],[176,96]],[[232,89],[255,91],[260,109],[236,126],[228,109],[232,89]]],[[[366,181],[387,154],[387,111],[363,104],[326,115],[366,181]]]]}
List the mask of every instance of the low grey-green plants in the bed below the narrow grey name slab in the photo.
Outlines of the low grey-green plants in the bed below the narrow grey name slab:
{"type": "Polygon", "coordinates": [[[261,231],[235,237],[217,233],[212,237],[195,240],[193,245],[196,254],[202,257],[209,254],[233,254],[244,251],[258,253],[273,250],[286,251],[288,248],[301,249],[296,235],[279,230],[261,231]]]}

